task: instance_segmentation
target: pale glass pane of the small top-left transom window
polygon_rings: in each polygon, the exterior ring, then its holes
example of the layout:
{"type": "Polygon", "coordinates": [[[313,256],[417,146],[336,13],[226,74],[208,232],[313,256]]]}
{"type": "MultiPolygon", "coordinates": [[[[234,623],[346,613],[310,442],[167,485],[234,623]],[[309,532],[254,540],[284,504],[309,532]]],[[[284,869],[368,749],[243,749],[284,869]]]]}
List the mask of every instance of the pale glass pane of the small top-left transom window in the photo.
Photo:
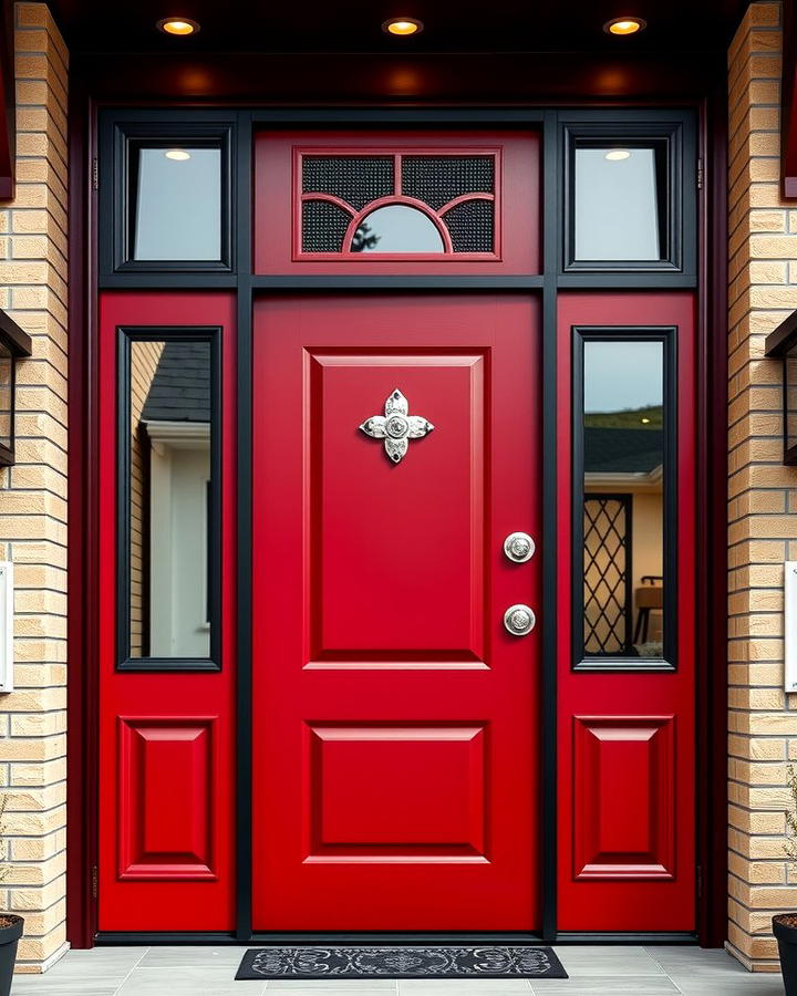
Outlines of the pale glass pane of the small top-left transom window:
{"type": "Polygon", "coordinates": [[[221,151],[133,152],[133,259],[221,259],[221,151]]]}

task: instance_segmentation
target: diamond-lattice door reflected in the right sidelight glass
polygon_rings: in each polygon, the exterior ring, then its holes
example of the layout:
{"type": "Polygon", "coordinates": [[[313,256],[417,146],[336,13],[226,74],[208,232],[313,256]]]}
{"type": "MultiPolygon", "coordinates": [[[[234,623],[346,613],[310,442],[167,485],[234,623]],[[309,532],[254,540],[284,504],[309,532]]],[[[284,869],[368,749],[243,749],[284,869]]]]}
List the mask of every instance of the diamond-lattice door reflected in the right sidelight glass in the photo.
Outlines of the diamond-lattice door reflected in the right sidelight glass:
{"type": "Polygon", "coordinates": [[[631,495],[584,496],[584,653],[632,651],[631,495]]]}

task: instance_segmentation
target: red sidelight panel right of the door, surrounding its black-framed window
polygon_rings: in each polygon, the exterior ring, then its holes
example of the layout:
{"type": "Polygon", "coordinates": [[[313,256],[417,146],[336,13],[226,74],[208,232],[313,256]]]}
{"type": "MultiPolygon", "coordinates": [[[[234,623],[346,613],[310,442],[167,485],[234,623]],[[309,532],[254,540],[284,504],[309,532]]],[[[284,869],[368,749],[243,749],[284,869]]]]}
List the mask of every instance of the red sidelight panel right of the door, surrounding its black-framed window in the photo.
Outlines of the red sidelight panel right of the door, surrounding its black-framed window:
{"type": "MultiPolygon", "coordinates": [[[[560,931],[695,926],[693,308],[687,293],[573,293],[559,300],[560,495],[571,492],[573,328],[618,330],[629,339],[634,329],[675,330],[675,466],[665,470],[664,488],[676,498],[679,550],[676,654],[669,670],[643,671],[639,657],[609,670],[572,670],[573,589],[567,571],[559,578],[560,931]]],[[[561,502],[562,564],[573,562],[571,521],[561,502]]],[[[639,529],[645,529],[643,520],[639,529]]]]}

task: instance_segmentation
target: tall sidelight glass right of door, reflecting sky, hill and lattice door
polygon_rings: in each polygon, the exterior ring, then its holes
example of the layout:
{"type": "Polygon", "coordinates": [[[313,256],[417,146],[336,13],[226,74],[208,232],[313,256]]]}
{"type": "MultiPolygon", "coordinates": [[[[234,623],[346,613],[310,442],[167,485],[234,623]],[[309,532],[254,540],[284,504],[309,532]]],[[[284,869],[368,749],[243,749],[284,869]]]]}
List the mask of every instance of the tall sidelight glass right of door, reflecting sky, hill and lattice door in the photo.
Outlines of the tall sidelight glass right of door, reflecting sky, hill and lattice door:
{"type": "Polygon", "coordinates": [[[664,345],[583,345],[583,646],[663,656],[664,345]]]}

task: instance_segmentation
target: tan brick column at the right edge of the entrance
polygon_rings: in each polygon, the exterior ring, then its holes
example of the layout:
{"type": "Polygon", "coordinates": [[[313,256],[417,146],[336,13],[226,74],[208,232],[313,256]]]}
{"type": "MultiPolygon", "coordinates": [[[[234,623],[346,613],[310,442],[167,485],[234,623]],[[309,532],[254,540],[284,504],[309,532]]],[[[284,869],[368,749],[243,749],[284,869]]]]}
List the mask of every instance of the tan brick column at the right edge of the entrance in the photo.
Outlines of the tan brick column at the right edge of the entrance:
{"type": "Polygon", "coordinates": [[[783,562],[797,558],[797,469],[782,465],[780,364],[764,340],[797,308],[797,206],[779,199],[780,4],[752,3],[729,82],[731,951],[777,968],[770,916],[797,910],[784,857],[797,697],[783,692],[783,562]]]}

